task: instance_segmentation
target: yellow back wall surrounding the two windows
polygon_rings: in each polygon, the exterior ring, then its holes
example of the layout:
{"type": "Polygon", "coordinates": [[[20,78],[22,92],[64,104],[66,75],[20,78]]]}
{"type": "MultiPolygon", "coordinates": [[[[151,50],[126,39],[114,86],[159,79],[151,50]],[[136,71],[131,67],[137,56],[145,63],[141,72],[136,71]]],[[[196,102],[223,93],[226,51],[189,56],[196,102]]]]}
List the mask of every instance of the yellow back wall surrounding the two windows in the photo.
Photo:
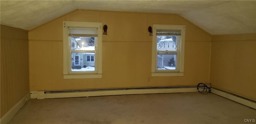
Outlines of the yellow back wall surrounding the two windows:
{"type": "Polygon", "coordinates": [[[29,31],[30,91],[208,83],[211,35],[176,14],[75,10],[29,31]],[[62,22],[102,22],[102,79],[63,79],[62,22]],[[186,25],[183,77],[151,77],[153,24],[186,25]]]}

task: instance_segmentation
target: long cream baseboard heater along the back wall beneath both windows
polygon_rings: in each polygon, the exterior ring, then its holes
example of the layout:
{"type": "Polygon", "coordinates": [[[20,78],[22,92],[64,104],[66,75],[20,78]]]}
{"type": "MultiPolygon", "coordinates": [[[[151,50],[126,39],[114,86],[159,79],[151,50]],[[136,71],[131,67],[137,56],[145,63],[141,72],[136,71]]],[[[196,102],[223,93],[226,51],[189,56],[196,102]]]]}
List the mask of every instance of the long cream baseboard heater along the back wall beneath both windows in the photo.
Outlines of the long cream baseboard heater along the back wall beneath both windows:
{"type": "Polygon", "coordinates": [[[196,86],[175,86],[175,87],[133,87],[133,88],[112,88],[112,89],[84,89],[65,91],[32,91],[31,98],[70,98],[88,96],[110,96],[124,94],[154,94],[154,93],[186,93],[197,92],[196,86]]]}

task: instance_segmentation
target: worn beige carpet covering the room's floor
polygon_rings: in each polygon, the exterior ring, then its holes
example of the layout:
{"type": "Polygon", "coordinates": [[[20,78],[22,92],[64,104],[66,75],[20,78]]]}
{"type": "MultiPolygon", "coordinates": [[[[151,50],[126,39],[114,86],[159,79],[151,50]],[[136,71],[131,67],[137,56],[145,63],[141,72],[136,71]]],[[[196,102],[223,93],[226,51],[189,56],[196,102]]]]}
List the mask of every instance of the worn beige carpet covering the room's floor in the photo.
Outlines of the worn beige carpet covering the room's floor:
{"type": "Polygon", "coordinates": [[[256,110],[215,94],[32,99],[10,124],[244,124],[256,110]]]}

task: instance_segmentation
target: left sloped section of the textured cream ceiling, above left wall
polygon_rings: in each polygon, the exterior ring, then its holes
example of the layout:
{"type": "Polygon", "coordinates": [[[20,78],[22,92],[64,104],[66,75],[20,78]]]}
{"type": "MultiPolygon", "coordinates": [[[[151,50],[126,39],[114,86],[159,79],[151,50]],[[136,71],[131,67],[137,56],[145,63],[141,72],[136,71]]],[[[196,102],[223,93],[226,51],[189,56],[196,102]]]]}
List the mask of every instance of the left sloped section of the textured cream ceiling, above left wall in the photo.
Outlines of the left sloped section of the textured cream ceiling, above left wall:
{"type": "Polygon", "coordinates": [[[76,9],[72,1],[1,0],[1,24],[31,30],[76,9]]]}

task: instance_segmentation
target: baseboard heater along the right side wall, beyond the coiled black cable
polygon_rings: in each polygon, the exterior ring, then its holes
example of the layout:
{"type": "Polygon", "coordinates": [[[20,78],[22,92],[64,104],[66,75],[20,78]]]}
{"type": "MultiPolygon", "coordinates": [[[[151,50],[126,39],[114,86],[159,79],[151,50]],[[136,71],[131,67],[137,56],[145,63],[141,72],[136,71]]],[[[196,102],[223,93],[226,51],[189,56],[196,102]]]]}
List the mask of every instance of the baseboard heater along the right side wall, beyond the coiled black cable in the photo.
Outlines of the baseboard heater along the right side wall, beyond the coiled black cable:
{"type": "Polygon", "coordinates": [[[241,95],[238,95],[235,93],[231,93],[229,91],[225,91],[222,89],[218,89],[216,87],[211,87],[211,93],[217,94],[224,98],[228,98],[228,99],[238,102],[240,104],[244,104],[250,108],[256,109],[256,100],[254,100],[254,99],[247,98],[247,97],[244,97],[244,96],[241,96],[241,95]]]}

